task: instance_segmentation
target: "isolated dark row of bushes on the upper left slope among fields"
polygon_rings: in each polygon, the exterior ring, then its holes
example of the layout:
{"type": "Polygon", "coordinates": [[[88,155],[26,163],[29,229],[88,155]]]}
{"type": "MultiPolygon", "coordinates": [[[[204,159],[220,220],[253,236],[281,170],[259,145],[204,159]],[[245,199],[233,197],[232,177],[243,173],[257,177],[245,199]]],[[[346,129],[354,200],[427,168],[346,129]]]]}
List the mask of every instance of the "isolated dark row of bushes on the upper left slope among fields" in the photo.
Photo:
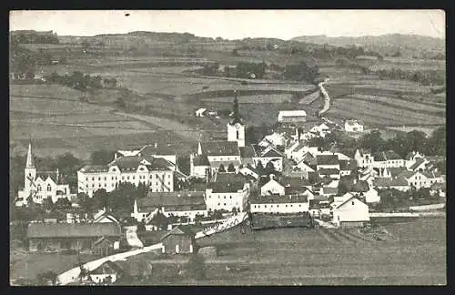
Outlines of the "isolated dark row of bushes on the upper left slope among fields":
{"type": "Polygon", "coordinates": [[[60,76],[56,72],[50,76],[45,76],[48,82],[58,83],[65,86],[75,88],[77,90],[86,91],[89,89],[100,89],[103,87],[116,87],[116,78],[106,78],[103,80],[101,76],[90,76],[79,71],[73,72],[71,75],[60,76]]]}

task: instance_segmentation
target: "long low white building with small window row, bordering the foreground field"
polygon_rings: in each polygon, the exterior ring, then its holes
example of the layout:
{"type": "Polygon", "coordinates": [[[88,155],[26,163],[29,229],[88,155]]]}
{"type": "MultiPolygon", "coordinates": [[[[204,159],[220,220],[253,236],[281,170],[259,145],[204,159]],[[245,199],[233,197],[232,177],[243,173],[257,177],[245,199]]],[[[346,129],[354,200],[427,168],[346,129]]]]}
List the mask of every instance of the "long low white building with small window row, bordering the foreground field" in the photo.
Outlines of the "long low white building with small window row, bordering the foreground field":
{"type": "Polygon", "coordinates": [[[250,200],[251,213],[291,214],[308,212],[309,202],[301,194],[287,196],[258,196],[250,200]]]}

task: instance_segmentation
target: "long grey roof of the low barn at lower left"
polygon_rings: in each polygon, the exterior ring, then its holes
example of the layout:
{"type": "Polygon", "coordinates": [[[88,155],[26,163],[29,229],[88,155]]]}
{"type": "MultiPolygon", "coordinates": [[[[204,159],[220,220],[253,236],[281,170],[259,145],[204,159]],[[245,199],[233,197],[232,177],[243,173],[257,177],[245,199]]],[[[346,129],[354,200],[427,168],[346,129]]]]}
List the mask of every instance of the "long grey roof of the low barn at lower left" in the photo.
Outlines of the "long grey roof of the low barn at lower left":
{"type": "Polygon", "coordinates": [[[85,238],[119,237],[121,230],[115,223],[30,223],[27,238],[85,238]]]}

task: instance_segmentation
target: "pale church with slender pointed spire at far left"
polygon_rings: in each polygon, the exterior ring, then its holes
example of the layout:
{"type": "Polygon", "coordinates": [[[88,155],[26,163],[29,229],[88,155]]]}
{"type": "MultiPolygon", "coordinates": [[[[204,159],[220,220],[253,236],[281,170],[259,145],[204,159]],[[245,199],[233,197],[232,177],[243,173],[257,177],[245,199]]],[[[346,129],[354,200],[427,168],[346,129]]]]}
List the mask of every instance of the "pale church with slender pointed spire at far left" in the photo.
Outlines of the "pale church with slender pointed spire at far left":
{"type": "Polygon", "coordinates": [[[58,169],[56,171],[36,171],[30,142],[25,162],[24,188],[18,191],[15,205],[26,206],[30,200],[42,204],[45,198],[50,198],[55,203],[58,198],[69,199],[70,197],[69,185],[63,183],[58,169]]]}

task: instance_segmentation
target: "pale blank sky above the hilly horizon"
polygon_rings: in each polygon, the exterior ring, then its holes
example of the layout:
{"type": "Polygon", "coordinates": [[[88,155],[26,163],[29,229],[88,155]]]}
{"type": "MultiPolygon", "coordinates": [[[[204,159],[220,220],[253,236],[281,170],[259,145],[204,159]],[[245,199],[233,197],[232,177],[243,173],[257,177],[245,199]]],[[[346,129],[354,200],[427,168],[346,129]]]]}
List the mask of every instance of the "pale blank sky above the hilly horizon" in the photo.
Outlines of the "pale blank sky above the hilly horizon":
{"type": "Polygon", "coordinates": [[[445,38],[443,10],[56,10],[11,11],[10,30],[95,36],[133,31],[241,39],[415,34],[445,38]],[[126,14],[129,14],[126,16],[126,14]]]}

